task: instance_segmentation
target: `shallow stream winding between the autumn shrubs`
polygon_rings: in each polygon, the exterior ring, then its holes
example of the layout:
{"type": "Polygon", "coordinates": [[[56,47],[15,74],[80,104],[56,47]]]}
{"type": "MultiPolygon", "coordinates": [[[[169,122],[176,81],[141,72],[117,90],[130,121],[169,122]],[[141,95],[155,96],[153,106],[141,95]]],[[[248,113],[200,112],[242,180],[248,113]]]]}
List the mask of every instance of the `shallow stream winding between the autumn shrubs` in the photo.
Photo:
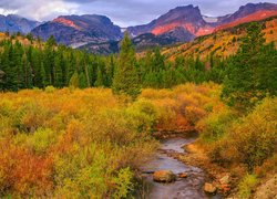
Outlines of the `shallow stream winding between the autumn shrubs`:
{"type": "Polygon", "coordinates": [[[172,184],[160,184],[153,181],[152,174],[144,174],[144,180],[147,184],[147,199],[218,199],[219,196],[207,196],[203,186],[205,184],[205,172],[197,168],[187,166],[173,157],[168,153],[182,153],[185,145],[193,143],[195,138],[168,138],[161,143],[161,149],[155,157],[142,167],[144,171],[172,170],[174,174],[186,172],[187,178],[178,178],[172,184]]]}

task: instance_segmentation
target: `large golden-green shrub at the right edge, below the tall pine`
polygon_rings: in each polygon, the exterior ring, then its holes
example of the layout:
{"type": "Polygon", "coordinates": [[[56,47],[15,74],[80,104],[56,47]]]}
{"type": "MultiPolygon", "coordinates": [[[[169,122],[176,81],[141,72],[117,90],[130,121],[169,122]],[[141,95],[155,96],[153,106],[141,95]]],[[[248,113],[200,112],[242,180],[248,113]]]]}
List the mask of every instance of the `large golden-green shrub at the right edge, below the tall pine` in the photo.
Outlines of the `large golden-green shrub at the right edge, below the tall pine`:
{"type": "Polygon", "coordinates": [[[252,171],[277,150],[277,97],[265,98],[253,113],[229,132],[239,161],[252,171]]]}

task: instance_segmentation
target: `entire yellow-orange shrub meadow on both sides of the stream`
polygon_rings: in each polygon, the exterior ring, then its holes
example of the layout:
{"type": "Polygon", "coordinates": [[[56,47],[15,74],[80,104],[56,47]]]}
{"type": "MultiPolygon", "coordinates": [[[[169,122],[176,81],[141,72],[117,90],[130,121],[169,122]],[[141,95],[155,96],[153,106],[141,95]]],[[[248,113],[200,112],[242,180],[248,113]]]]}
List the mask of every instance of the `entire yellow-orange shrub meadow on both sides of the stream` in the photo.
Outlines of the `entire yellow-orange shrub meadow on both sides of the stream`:
{"type": "Polygon", "coordinates": [[[242,115],[220,101],[220,91],[188,83],[146,88],[135,101],[110,88],[2,93],[0,196],[130,197],[137,169],[158,147],[157,130],[196,129],[213,161],[242,179],[267,175],[276,161],[276,97],[242,115]]]}

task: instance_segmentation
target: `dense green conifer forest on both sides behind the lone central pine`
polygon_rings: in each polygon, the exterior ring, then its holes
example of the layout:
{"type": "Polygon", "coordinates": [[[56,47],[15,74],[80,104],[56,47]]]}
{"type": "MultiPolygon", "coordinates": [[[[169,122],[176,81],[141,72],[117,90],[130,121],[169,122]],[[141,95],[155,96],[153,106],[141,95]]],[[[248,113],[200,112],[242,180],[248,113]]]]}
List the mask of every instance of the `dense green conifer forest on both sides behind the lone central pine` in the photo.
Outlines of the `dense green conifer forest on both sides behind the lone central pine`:
{"type": "MultiPolygon", "coordinates": [[[[132,49],[126,48],[125,51],[132,49]]],[[[116,69],[123,64],[123,59],[117,54],[93,55],[57,45],[53,38],[39,45],[24,45],[12,36],[1,41],[0,49],[0,91],[43,88],[49,85],[61,88],[71,84],[80,88],[111,87],[116,69]]],[[[127,60],[133,59],[131,64],[135,67],[141,87],[163,88],[204,81],[222,83],[226,64],[226,61],[212,55],[205,62],[198,56],[176,57],[175,62],[168,62],[158,48],[147,51],[143,57],[136,57],[135,53],[127,56],[127,60]]]]}

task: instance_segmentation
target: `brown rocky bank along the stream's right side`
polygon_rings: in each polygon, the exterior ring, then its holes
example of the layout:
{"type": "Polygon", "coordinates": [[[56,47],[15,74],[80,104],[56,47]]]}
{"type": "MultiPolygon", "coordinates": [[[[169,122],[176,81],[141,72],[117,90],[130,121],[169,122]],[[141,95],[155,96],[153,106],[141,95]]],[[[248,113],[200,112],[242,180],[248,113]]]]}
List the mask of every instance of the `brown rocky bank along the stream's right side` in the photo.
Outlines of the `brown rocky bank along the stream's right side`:
{"type": "Polygon", "coordinates": [[[223,168],[214,163],[204,153],[204,148],[197,144],[198,133],[196,130],[189,132],[158,132],[154,134],[158,140],[168,138],[195,138],[195,140],[188,145],[184,145],[182,148],[184,153],[171,153],[164,151],[167,156],[177,159],[178,161],[198,167],[206,174],[206,182],[213,184],[217,188],[217,192],[224,198],[236,195],[236,185],[238,178],[230,174],[230,170],[223,168]]]}

